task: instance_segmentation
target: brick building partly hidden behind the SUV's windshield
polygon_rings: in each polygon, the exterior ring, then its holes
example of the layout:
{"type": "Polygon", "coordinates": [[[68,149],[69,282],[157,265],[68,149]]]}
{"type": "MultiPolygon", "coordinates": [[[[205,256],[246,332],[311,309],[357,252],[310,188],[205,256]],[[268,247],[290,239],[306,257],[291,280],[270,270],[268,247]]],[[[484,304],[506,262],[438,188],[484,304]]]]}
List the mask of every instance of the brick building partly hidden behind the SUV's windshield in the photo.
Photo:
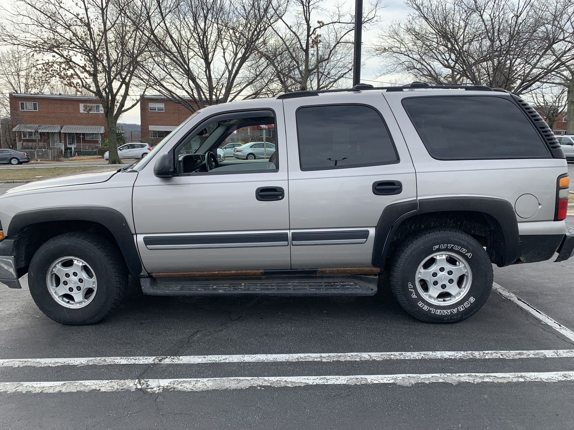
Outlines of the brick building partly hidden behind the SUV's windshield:
{"type": "Polygon", "coordinates": [[[139,102],[142,138],[165,138],[192,114],[183,105],[164,96],[144,96],[139,102]]]}

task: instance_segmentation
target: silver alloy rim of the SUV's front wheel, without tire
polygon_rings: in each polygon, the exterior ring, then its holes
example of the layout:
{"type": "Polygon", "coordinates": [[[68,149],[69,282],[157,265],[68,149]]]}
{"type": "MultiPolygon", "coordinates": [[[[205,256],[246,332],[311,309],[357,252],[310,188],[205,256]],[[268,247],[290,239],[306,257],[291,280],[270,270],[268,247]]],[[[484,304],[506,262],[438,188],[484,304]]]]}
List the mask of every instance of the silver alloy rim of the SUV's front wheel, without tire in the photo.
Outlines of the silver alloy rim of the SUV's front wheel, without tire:
{"type": "Polygon", "coordinates": [[[78,309],[94,300],[98,281],[90,265],[77,257],[61,257],[46,273],[50,295],[61,306],[78,309]]]}

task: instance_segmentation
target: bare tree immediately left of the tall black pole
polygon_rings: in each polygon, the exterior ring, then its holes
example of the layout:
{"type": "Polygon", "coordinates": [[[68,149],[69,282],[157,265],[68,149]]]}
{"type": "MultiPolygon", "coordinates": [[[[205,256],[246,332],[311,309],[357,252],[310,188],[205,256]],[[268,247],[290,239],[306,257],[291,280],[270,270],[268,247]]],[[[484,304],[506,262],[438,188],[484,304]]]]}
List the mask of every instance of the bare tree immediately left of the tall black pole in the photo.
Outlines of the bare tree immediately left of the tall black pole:
{"type": "MultiPolygon", "coordinates": [[[[363,13],[363,26],[377,20],[381,2],[374,0],[363,13]]],[[[269,64],[270,93],[328,89],[350,77],[353,68],[353,11],[319,0],[290,0],[287,15],[273,27],[274,39],[259,54],[269,64]],[[290,18],[291,17],[291,18],[290,18]]]]}

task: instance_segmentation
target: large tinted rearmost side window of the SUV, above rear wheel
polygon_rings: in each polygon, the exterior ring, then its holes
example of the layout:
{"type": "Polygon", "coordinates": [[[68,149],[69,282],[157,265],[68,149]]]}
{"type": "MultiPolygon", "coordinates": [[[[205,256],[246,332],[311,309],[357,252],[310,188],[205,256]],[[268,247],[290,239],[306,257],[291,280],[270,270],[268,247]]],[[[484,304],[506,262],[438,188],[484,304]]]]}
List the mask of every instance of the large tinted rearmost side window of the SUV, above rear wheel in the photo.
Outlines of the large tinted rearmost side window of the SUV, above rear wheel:
{"type": "Polygon", "coordinates": [[[433,158],[551,157],[530,120],[502,97],[411,97],[402,105],[433,158]]]}

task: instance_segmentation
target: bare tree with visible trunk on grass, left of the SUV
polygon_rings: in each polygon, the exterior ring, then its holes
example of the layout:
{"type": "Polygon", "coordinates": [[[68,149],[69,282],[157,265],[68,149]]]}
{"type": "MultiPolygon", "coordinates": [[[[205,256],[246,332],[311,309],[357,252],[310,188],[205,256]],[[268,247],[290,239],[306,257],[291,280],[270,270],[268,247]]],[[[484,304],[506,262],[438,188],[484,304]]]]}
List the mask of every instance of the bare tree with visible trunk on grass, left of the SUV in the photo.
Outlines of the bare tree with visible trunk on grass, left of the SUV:
{"type": "Polygon", "coordinates": [[[120,163],[116,128],[128,102],[143,43],[127,18],[133,0],[16,0],[0,40],[48,56],[46,69],[69,87],[98,97],[106,118],[110,163],[120,163]]]}

